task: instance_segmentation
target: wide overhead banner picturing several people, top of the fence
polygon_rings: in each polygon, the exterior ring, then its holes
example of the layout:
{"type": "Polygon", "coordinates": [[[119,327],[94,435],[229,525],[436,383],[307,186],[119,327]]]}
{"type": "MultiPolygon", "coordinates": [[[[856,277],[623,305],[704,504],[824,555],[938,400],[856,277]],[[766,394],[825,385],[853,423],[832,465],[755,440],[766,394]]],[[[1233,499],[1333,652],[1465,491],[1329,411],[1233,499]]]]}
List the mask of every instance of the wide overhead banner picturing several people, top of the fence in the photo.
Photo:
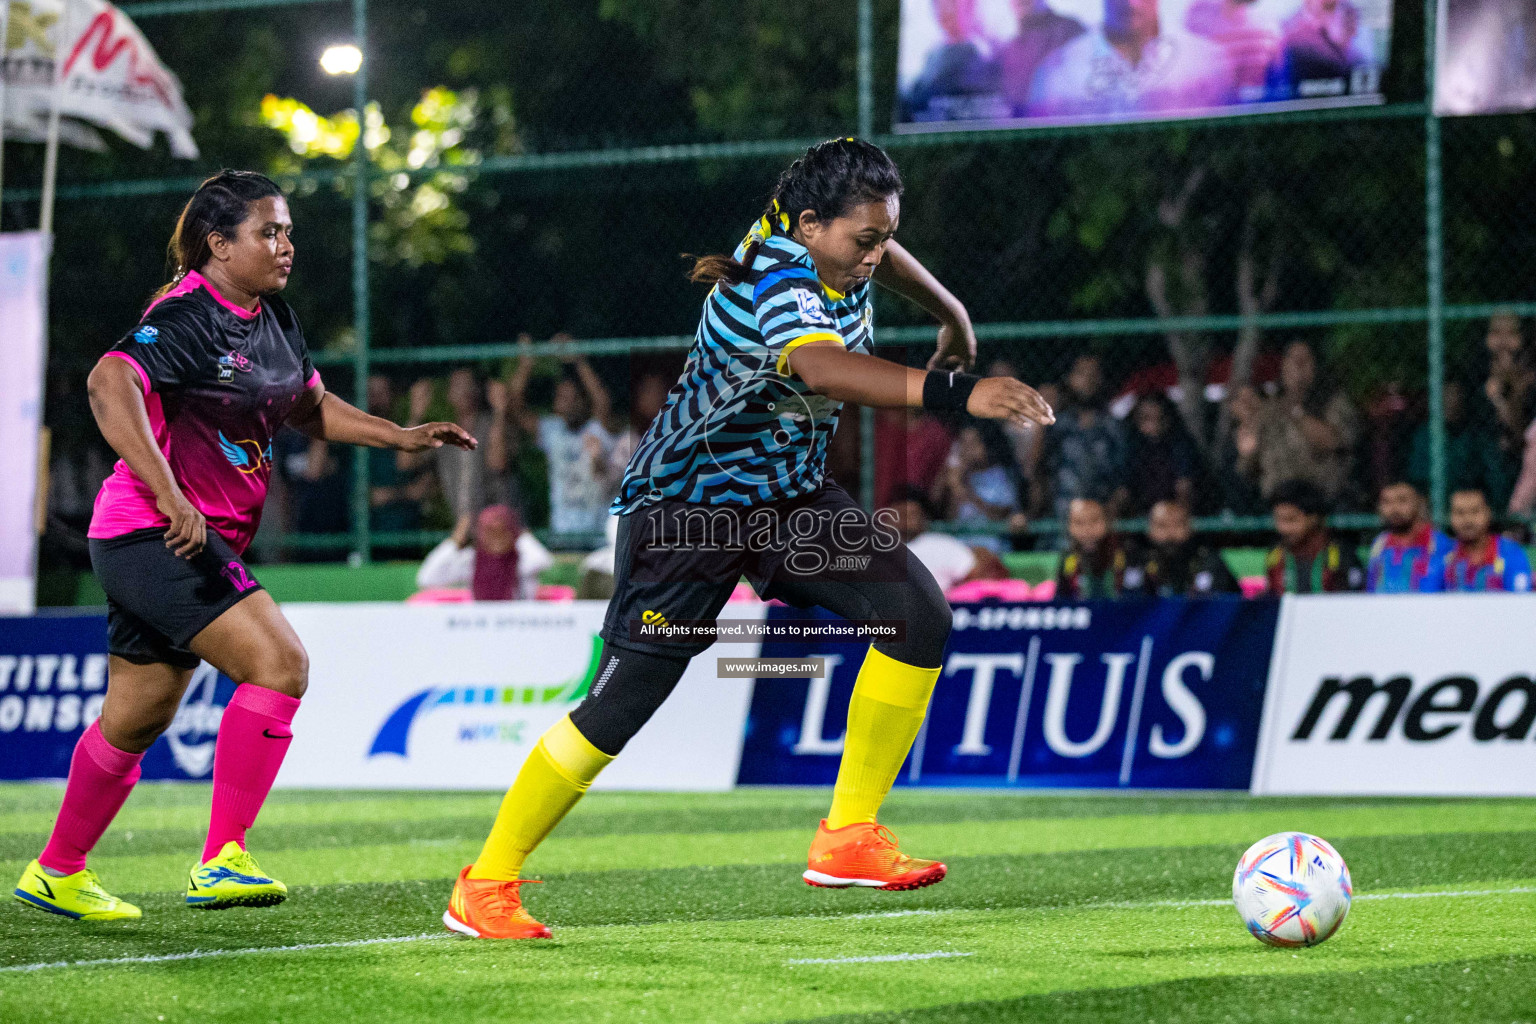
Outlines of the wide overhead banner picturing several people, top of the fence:
{"type": "Polygon", "coordinates": [[[1392,0],[902,0],[895,130],[1381,103],[1392,0]]]}

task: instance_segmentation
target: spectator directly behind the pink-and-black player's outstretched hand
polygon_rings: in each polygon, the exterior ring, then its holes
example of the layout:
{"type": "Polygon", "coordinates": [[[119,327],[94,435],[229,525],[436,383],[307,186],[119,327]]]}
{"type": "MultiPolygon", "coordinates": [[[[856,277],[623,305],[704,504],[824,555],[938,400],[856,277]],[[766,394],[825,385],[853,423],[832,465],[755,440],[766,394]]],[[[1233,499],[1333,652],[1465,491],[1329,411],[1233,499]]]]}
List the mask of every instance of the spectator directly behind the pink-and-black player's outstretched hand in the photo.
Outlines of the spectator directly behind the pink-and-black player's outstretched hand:
{"type": "MultiPolygon", "coordinates": [[[[418,381],[410,388],[407,425],[424,422],[430,404],[432,382],[418,381]]],[[[458,367],[449,373],[449,405],[453,407],[455,422],[464,424],[479,439],[479,447],[473,451],[442,445],[430,453],[453,519],[473,520],[487,505],[516,504],[518,496],[507,473],[510,453],[507,387],[501,381],[482,385],[475,370],[458,367]],[[481,405],[482,396],[488,408],[481,405]]],[[[410,461],[404,465],[407,470],[415,468],[410,461]]]]}

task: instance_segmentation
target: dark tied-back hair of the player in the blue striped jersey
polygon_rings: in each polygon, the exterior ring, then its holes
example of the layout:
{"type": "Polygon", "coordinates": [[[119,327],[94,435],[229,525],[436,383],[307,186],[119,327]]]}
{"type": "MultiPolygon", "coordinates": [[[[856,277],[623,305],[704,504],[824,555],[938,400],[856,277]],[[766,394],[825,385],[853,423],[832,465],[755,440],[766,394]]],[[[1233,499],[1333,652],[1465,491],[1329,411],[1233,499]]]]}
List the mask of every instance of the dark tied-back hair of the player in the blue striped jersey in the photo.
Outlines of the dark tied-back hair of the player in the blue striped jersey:
{"type": "Polygon", "coordinates": [[[763,243],[774,232],[793,232],[805,210],[811,210],[819,221],[831,221],[856,206],[902,195],[902,172],[874,143],[851,135],[817,143],[779,175],[768,209],[746,236],[742,258],[684,253],[684,259],[693,259],[688,279],[700,284],[743,284],[763,243]]]}

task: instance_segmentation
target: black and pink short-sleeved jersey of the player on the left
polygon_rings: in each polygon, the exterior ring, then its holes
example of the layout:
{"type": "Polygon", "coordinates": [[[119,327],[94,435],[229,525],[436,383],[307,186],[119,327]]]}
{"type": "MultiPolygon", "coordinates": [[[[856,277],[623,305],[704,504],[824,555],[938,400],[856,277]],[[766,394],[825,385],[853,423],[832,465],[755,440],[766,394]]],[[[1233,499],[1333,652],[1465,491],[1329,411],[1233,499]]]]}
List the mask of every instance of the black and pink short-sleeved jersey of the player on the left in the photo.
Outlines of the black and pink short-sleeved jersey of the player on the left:
{"type": "MultiPolygon", "coordinates": [[[[293,310],[276,296],[244,310],[194,270],[104,358],[138,372],[172,476],[207,525],[243,553],[261,522],[272,438],[319,382],[293,310]]],[[[97,494],[89,536],[169,525],[149,485],[118,461],[97,494]]]]}

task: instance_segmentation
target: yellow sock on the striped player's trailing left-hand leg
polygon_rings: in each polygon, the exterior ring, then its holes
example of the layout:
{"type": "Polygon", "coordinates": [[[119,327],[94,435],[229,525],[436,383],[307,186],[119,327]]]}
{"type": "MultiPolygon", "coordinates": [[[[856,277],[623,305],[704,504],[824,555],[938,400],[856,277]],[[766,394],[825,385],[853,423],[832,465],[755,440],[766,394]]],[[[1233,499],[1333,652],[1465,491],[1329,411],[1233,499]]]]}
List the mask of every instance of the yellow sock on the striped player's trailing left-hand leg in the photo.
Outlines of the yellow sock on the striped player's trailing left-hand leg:
{"type": "Polygon", "coordinates": [[[533,847],[576,806],[611,760],[613,755],[587,742],[570,717],[550,726],[502,797],[496,824],[470,867],[470,878],[516,878],[533,847]]]}

